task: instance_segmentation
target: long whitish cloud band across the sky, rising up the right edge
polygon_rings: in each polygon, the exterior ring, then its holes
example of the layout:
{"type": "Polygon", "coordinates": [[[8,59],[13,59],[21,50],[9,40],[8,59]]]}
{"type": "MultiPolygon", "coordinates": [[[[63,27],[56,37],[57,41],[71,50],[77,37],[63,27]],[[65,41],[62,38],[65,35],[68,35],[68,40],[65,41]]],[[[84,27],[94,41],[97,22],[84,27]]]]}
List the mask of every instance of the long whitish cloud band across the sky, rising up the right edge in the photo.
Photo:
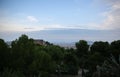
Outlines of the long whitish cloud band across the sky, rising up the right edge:
{"type": "MultiPolygon", "coordinates": [[[[76,0],[78,1],[78,0],[76,0]]],[[[97,1],[97,0],[96,0],[97,1]]],[[[99,0],[98,0],[99,1],[99,0]]],[[[101,0],[103,4],[108,6],[109,10],[104,12],[105,19],[101,23],[91,22],[86,24],[40,24],[39,21],[54,21],[52,17],[41,18],[38,20],[35,16],[27,16],[26,19],[14,19],[14,17],[6,17],[6,11],[0,12],[0,31],[38,31],[38,30],[53,30],[53,29],[120,29],[120,0],[101,0]],[[5,14],[5,15],[4,15],[5,14]],[[23,22],[19,22],[23,20],[23,22]],[[29,22],[28,22],[29,21],[29,22]],[[37,23],[30,23],[37,22],[37,23]]],[[[102,6],[102,5],[101,5],[102,6]]],[[[105,7],[106,8],[106,7],[105,7]]],[[[102,13],[103,14],[103,13],[102,13]]]]}

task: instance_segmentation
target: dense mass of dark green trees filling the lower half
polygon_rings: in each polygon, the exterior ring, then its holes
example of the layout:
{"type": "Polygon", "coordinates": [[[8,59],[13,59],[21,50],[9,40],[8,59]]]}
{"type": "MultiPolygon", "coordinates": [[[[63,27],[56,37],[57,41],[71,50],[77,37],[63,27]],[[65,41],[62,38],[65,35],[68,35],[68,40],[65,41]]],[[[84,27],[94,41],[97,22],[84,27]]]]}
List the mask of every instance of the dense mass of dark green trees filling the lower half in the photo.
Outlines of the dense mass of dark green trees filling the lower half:
{"type": "Polygon", "coordinates": [[[79,69],[83,77],[120,77],[120,40],[92,45],[80,40],[75,49],[66,49],[49,42],[35,44],[27,35],[11,46],[0,39],[0,77],[77,75],[79,69]]]}

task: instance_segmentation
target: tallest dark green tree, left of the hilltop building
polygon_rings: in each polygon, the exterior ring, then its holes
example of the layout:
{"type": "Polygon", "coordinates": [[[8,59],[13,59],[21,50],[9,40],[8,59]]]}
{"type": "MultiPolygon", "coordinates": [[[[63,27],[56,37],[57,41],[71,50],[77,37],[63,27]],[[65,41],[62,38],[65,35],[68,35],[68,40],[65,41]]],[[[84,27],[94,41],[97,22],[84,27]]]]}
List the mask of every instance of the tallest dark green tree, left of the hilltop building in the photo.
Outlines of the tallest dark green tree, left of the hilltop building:
{"type": "Polygon", "coordinates": [[[29,64],[33,61],[34,42],[26,35],[21,35],[19,39],[12,42],[11,67],[27,73],[29,64]]]}

